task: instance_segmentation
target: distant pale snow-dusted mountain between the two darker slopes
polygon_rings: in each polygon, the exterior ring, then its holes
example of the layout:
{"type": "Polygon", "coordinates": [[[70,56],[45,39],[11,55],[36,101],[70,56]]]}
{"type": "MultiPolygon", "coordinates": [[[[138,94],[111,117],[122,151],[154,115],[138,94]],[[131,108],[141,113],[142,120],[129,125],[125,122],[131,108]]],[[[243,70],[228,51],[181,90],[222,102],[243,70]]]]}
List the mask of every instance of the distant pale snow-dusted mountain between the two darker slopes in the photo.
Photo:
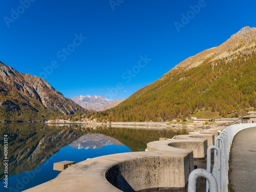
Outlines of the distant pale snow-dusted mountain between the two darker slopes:
{"type": "Polygon", "coordinates": [[[118,105],[124,99],[106,99],[98,95],[76,96],[72,100],[79,104],[82,108],[94,111],[103,111],[105,109],[113,108],[118,105]]]}

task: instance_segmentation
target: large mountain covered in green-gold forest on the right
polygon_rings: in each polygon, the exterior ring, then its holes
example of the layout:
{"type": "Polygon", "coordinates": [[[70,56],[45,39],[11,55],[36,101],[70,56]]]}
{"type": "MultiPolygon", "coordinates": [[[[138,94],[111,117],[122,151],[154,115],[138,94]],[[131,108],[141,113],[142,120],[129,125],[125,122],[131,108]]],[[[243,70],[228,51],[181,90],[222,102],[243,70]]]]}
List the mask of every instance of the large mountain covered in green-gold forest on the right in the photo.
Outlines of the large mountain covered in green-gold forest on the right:
{"type": "Polygon", "coordinates": [[[95,117],[111,121],[184,120],[201,110],[225,117],[256,108],[255,50],[256,28],[245,27],[95,117]]]}

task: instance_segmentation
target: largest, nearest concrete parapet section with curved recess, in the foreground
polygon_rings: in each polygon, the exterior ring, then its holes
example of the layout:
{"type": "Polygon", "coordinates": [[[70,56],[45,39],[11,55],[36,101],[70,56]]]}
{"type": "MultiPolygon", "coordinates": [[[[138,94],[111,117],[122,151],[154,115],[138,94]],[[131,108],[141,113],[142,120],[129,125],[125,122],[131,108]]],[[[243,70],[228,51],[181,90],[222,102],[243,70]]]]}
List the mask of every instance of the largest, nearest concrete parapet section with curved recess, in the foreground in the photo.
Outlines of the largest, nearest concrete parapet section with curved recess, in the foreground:
{"type": "Polygon", "coordinates": [[[26,191],[184,190],[192,170],[189,150],[113,154],[77,163],[26,191]]]}

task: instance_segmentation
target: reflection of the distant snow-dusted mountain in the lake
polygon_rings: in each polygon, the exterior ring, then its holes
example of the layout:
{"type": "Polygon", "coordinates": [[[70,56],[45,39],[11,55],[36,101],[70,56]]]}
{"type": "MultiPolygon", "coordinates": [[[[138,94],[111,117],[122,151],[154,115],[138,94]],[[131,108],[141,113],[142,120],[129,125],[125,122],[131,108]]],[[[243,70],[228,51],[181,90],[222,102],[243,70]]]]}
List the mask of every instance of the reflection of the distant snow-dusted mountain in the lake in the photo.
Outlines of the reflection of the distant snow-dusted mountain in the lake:
{"type": "Polygon", "coordinates": [[[97,149],[112,144],[123,145],[118,140],[109,136],[105,136],[102,134],[86,134],[81,136],[76,141],[73,141],[69,146],[71,146],[72,148],[77,148],[78,150],[80,148],[85,148],[86,150],[88,150],[89,148],[97,149]]]}

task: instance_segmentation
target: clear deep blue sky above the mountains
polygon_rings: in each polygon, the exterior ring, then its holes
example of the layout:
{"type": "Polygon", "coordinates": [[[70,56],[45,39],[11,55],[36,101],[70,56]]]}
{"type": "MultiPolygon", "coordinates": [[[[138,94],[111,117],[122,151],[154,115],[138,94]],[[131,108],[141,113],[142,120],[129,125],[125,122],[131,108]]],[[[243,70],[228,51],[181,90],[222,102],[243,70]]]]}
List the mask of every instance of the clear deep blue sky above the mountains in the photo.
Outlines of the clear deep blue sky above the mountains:
{"type": "Polygon", "coordinates": [[[248,0],[21,0],[0,7],[0,60],[70,98],[129,97],[187,57],[256,27],[256,2],[248,0]]]}

